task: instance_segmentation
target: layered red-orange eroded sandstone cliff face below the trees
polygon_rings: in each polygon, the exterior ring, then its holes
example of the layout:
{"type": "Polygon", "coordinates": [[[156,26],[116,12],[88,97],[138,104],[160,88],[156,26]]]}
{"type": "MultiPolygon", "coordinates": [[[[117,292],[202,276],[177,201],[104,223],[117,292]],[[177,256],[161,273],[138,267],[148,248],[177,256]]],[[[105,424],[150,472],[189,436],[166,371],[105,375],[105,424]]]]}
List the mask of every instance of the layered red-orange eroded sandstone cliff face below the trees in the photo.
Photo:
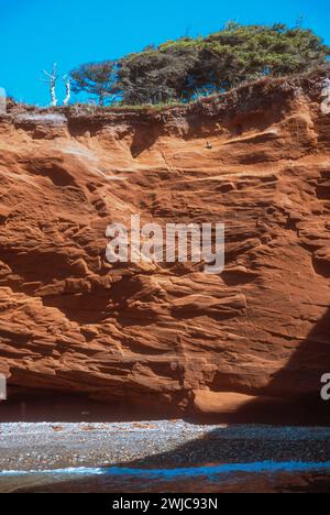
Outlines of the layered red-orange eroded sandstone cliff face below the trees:
{"type": "Polygon", "coordinates": [[[234,409],[330,372],[322,74],[162,112],[0,124],[0,372],[26,391],[234,409]],[[106,228],[226,222],[227,264],[110,265],[106,228]]]}

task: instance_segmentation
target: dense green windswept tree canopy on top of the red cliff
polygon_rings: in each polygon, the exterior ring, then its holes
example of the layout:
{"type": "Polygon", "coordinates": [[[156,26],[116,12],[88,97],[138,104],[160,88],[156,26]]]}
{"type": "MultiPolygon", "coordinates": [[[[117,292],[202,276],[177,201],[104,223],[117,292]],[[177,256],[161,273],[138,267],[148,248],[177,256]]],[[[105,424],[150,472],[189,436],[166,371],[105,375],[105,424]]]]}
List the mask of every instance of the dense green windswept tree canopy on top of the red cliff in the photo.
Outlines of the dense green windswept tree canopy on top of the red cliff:
{"type": "Polygon", "coordinates": [[[329,55],[311,30],[230,22],[207,37],[150,45],[117,64],[82,65],[72,75],[75,91],[96,94],[101,102],[120,95],[123,103],[160,103],[226,91],[265,75],[304,73],[329,55]]]}

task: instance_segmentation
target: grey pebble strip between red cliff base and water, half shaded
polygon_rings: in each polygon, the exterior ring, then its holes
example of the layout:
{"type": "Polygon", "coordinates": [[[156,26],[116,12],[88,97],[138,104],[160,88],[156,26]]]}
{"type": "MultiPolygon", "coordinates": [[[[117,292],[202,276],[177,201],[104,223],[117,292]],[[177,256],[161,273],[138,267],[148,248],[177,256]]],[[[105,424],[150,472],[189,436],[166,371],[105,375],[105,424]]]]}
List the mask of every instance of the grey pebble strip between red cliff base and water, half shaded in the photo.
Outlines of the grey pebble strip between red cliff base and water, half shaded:
{"type": "Polygon", "coordinates": [[[330,428],[205,426],[184,420],[1,424],[0,470],[330,461],[330,428]]]}

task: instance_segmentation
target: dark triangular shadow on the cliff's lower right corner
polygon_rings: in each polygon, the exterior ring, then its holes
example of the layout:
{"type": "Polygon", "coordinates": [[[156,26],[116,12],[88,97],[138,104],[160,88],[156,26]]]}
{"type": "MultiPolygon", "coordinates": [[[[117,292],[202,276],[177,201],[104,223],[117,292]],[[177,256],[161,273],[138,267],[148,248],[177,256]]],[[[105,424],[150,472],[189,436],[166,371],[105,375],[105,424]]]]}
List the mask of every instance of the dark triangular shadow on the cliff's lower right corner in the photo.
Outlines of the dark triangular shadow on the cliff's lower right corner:
{"type": "Polygon", "coordinates": [[[256,401],[234,413],[204,415],[202,419],[233,424],[330,426],[330,401],[321,398],[321,377],[326,373],[330,373],[330,309],[256,401]]]}

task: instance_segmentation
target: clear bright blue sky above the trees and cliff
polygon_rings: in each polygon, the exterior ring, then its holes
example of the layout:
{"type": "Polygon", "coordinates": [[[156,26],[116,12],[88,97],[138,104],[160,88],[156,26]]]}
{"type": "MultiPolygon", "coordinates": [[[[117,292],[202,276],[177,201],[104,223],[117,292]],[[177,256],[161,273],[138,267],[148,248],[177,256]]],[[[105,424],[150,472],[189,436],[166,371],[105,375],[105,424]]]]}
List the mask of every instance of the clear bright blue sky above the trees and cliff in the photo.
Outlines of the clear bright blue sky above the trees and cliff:
{"type": "Polygon", "coordinates": [[[121,57],[168,39],[208,34],[229,20],[284,22],[299,17],[330,44],[329,0],[0,0],[0,86],[45,105],[41,69],[121,57]]]}

